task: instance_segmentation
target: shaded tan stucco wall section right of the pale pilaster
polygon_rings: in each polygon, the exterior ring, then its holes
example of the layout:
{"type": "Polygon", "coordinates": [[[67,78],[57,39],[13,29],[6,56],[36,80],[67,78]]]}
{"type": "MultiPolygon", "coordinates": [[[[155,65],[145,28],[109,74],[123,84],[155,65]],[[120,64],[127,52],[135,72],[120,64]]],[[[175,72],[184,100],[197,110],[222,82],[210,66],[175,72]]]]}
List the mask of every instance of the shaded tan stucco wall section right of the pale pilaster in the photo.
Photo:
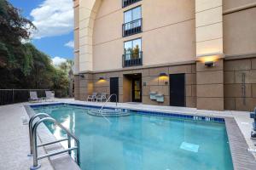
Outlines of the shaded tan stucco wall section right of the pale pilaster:
{"type": "Polygon", "coordinates": [[[256,8],[224,15],[224,54],[256,53],[256,8]]]}

